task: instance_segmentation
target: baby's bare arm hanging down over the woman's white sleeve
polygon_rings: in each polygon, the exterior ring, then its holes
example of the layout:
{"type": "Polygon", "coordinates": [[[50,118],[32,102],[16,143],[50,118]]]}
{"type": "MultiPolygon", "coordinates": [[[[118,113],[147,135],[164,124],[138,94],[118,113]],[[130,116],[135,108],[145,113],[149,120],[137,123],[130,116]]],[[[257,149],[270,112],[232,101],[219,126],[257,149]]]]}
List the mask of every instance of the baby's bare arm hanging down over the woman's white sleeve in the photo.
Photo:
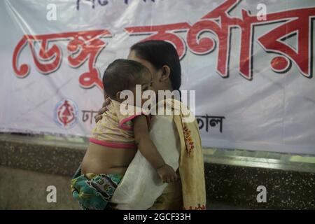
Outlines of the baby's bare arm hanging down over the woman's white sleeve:
{"type": "Polygon", "coordinates": [[[169,165],[165,164],[162,156],[158,152],[151,141],[148,133],[148,124],[146,121],[146,116],[137,116],[134,118],[134,141],[136,142],[139,151],[144,158],[151,163],[151,165],[157,170],[160,178],[163,182],[172,182],[177,179],[176,172],[169,165]]]}

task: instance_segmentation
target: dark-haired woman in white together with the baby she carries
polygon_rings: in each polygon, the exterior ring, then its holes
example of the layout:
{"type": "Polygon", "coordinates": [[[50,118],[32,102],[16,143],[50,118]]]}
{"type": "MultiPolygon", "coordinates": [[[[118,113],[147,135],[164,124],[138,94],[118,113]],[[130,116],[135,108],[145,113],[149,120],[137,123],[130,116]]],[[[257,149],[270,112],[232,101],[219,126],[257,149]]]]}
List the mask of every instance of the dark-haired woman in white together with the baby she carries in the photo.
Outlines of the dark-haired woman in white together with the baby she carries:
{"type": "Polygon", "coordinates": [[[120,110],[124,105],[120,94],[124,90],[134,93],[136,85],[141,85],[141,91],[179,91],[181,65],[173,45],[165,41],[136,43],[127,60],[109,65],[103,84],[108,98],[95,117],[97,125],[82,169],[71,181],[73,197],[80,206],[206,209],[199,128],[194,117],[185,121],[187,113],[182,108],[186,106],[171,97],[162,99],[157,107],[172,109],[172,114],[136,113],[146,100],[134,105],[132,113],[120,110]]]}

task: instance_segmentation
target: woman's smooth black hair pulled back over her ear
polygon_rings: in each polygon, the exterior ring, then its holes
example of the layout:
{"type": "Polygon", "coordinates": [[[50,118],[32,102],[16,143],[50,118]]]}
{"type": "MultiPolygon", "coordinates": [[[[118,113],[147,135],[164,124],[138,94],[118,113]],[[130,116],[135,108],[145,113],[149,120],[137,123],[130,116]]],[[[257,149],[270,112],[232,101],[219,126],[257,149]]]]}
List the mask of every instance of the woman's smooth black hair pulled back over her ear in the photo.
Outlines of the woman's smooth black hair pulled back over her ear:
{"type": "Polygon", "coordinates": [[[181,87],[181,64],[179,55],[171,43],[166,41],[143,41],[132,45],[130,50],[134,50],[136,55],[144,59],[155,67],[162,69],[167,65],[171,69],[169,78],[171,79],[174,90],[181,87]]]}

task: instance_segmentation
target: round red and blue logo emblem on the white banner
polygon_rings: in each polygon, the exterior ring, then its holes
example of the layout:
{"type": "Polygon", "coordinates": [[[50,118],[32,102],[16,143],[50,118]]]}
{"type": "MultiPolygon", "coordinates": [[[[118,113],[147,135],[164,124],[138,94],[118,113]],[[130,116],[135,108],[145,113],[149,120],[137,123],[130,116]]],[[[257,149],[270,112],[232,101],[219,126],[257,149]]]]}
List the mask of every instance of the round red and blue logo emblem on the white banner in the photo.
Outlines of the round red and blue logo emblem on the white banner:
{"type": "Polygon", "coordinates": [[[62,99],[55,107],[54,120],[57,125],[69,129],[78,120],[78,106],[71,99],[62,99]]]}

